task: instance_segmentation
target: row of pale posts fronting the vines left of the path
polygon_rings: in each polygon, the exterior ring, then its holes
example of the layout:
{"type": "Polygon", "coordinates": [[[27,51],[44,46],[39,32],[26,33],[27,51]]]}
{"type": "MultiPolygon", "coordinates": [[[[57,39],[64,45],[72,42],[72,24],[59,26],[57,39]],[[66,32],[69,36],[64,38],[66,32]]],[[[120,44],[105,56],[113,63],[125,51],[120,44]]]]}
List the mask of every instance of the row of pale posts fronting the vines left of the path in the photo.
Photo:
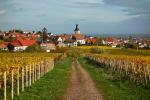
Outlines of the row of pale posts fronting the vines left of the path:
{"type": "Polygon", "coordinates": [[[25,88],[31,87],[38,79],[40,79],[47,72],[52,70],[54,67],[54,59],[44,60],[38,63],[32,63],[27,66],[20,66],[18,68],[11,68],[8,72],[5,68],[1,72],[1,98],[4,100],[14,99],[14,96],[20,95],[20,92],[23,92],[25,88]],[[8,75],[8,73],[10,73],[8,75]],[[11,87],[11,88],[10,88],[11,87]],[[11,94],[10,91],[11,90],[11,94]],[[8,98],[8,94],[10,97],[8,98]]]}

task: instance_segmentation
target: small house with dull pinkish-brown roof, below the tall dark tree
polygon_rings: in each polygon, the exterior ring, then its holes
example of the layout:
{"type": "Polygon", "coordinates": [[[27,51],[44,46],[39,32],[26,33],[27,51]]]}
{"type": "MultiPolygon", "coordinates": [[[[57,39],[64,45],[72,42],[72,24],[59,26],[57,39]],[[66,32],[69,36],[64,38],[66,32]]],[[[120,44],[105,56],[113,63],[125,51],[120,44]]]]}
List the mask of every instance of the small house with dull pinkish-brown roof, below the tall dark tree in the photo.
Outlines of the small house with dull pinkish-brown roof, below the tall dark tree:
{"type": "Polygon", "coordinates": [[[43,47],[46,50],[46,52],[50,52],[51,50],[56,50],[56,46],[54,43],[41,43],[40,46],[43,47]]]}

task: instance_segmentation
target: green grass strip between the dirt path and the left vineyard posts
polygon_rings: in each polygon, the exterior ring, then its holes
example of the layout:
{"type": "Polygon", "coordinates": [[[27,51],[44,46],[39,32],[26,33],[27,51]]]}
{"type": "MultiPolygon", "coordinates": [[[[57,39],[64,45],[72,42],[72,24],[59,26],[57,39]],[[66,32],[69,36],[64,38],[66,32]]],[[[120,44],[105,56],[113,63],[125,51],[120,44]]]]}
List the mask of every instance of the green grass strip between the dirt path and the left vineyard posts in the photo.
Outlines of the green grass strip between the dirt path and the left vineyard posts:
{"type": "Polygon", "coordinates": [[[70,69],[71,59],[63,59],[15,100],[61,100],[69,83],[70,69]]]}

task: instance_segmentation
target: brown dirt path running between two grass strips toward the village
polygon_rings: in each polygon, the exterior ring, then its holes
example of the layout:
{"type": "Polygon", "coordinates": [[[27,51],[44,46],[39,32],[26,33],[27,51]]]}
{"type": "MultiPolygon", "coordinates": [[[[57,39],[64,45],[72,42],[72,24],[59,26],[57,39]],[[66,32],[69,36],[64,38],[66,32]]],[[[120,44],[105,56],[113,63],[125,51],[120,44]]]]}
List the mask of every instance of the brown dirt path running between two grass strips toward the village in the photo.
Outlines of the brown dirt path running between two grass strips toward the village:
{"type": "Polygon", "coordinates": [[[102,100],[89,74],[79,62],[72,63],[72,76],[64,100],[102,100]]]}

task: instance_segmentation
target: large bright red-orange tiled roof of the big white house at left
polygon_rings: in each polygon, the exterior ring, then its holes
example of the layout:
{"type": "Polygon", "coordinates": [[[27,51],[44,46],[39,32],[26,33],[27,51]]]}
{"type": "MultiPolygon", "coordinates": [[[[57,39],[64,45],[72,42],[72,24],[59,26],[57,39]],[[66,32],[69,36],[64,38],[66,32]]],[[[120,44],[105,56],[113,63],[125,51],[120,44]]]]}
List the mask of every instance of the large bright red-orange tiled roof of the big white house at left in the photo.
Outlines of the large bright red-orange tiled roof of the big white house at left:
{"type": "Polygon", "coordinates": [[[21,37],[16,37],[16,39],[10,44],[13,46],[31,46],[33,44],[36,44],[36,41],[27,38],[23,39],[21,37]]]}

